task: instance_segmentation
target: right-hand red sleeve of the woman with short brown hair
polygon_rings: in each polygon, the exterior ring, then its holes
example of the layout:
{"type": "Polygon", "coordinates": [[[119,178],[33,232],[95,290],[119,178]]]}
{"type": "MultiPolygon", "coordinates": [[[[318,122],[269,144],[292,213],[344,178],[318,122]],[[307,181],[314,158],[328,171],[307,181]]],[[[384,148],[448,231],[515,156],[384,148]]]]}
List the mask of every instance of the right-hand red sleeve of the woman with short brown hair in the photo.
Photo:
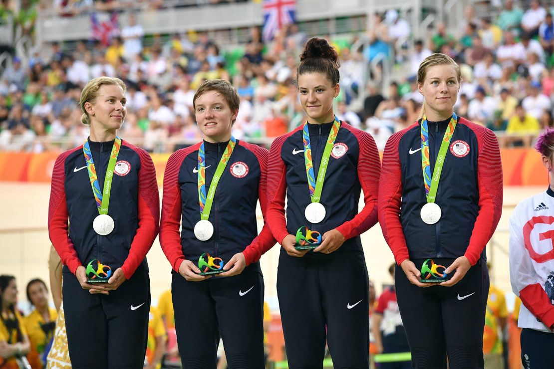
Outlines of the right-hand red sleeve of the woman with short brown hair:
{"type": "Polygon", "coordinates": [[[258,145],[253,145],[246,143],[244,141],[239,141],[239,144],[243,145],[245,148],[250,150],[260,163],[260,183],[258,185],[258,196],[260,201],[261,214],[264,217],[264,226],[261,228],[261,232],[258,237],[254,238],[254,241],[244,249],[243,254],[246,259],[246,264],[249,266],[252,263],[257,262],[260,257],[268,251],[271,247],[275,245],[275,238],[271,234],[271,230],[266,222],[266,209],[267,209],[267,186],[268,186],[268,155],[269,151],[259,147],[258,145]]]}

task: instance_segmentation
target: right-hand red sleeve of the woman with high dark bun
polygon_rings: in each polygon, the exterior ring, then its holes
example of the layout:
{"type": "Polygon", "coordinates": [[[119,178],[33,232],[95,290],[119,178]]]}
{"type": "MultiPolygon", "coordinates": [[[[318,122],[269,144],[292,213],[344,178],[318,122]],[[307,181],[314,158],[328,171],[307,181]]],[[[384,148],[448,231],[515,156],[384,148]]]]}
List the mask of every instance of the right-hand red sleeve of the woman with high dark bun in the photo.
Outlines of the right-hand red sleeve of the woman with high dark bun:
{"type": "Polygon", "coordinates": [[[363,191],[363,206],[352,220],[337,227],[337,231],[348,238],[360,236],[377,223],[377,192],[379,189],[379,174],[381,173],[381,158],[377,145],[371,134],[343,124],[358,140],[360,154],[358,157],[358,180],[363,191]]]}

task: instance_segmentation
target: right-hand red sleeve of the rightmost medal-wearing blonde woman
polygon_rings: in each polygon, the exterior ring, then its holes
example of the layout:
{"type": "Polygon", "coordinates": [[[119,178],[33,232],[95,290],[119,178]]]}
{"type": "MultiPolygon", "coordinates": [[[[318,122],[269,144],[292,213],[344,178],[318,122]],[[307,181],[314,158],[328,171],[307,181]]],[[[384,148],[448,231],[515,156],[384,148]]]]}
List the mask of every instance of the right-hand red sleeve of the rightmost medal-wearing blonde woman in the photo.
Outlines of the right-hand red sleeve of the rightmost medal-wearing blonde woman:
{"type": "Polygon", "coordinates": [[[502,162],[498,140],[494,132],[465,119],[463,122],[469,123],[468,126],[475,132],[479,145],[477,164],[479,214],[469,239],[468,249],[464,254],[471,265],[475,265],[479,261],[485,245],[493,236],[502,214],[502,162]]]}

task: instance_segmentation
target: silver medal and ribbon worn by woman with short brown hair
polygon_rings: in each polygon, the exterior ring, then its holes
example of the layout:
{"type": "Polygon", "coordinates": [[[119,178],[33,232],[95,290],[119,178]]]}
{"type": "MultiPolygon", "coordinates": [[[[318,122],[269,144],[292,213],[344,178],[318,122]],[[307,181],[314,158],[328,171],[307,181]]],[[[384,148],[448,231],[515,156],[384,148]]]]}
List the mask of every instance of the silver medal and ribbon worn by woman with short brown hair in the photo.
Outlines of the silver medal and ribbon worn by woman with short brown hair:
{"type": "Polygon", "coordinates": [[[212,183],[209,185],[208,193],[206,194],[206,153],[204,151],[204,142],[198,149],[198,202],[200,205],[200,219],[194,225],[194,236],[200,241],[207,241],[213,235],[213,225],[209,219],[209,213],[212,210],[214,194],[216,193],[217,184],[221,179],[221,175],[229,162],[233,149],[235,148],[236,140],[231,136],[219,164],[217,165],[216,173],[213,175],[212,183]]]}

